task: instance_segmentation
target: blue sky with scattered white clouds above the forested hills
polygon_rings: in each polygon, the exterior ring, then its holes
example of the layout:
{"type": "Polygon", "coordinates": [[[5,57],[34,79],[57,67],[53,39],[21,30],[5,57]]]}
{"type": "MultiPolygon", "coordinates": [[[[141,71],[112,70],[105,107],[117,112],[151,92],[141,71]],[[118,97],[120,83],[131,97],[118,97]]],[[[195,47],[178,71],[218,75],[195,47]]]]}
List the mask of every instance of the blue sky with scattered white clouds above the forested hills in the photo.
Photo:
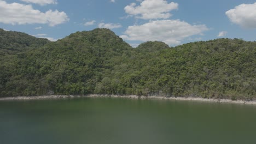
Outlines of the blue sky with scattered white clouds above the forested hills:
{"type": "Polygon", "coordinates": [[[256,39],[252,0],[0,0],[0,28],[51,41],[109,28],[131,46],[256,39]]]}

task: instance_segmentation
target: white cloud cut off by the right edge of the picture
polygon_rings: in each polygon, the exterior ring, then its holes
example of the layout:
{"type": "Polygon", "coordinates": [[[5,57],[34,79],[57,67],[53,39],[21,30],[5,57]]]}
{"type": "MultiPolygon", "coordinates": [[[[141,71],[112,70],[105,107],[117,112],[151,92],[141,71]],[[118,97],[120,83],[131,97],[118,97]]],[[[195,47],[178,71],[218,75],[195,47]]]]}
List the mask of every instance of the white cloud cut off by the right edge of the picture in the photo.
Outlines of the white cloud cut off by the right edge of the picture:
{"type": "Polygon", "coordinates": [[[244,28],[256,28],[256,3],[240,4],[226,11],[229,20],[244,28]]]}

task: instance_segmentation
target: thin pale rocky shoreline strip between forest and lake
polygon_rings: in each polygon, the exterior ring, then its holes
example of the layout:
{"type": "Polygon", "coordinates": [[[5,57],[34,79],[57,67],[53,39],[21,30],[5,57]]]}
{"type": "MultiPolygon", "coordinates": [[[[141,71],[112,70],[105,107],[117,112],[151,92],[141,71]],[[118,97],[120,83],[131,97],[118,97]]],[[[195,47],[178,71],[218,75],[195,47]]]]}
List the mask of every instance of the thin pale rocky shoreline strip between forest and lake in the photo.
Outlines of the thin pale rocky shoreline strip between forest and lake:
{"type": "Polygon", "coordinates": [[[230,99],[206,99],[206,98],[183,98],[183,97],[160,97],[160,96],[137,96],[137,95],[103,95],[103,94],[89,94],[89,95],[42,95],[32,97],[4,97],[4,100],[40,100],[40,99],[65,99],[65,98],[97,98],[97,97],[110,97],[110,98],[131,98],[131,99],[163,99],[163,100],[187,100],[187,101],[206,101],[214,103],[233,103],[233,104],[250,104],[256,105],[256,101],[246,100],[230,100],[230,99]]]}

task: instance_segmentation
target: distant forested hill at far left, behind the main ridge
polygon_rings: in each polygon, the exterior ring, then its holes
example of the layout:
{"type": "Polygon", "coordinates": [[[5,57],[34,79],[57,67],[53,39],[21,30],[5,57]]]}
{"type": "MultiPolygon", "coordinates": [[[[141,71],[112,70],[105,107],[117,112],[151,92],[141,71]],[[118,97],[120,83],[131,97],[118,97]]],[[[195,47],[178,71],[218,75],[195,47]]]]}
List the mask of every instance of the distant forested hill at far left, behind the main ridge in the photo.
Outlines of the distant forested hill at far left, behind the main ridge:
{"type": "Polygon", "coordinates": [[[49,42],[48,39],[36,38],[21,32],[5,31],[0,28],[0,56],[26,51],[49,42]]]}

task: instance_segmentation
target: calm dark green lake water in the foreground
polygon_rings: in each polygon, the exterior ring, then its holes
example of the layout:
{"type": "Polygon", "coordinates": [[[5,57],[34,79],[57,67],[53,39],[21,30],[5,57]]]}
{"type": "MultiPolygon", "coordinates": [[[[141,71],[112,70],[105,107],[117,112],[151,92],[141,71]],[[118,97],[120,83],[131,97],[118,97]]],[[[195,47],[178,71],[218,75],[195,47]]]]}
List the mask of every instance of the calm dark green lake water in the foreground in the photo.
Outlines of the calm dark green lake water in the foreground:
{"type": "Polygon", "coordinates": [[[256,106],[126,98],[0,101],[0,143],[256,143],[256,106]]]}

